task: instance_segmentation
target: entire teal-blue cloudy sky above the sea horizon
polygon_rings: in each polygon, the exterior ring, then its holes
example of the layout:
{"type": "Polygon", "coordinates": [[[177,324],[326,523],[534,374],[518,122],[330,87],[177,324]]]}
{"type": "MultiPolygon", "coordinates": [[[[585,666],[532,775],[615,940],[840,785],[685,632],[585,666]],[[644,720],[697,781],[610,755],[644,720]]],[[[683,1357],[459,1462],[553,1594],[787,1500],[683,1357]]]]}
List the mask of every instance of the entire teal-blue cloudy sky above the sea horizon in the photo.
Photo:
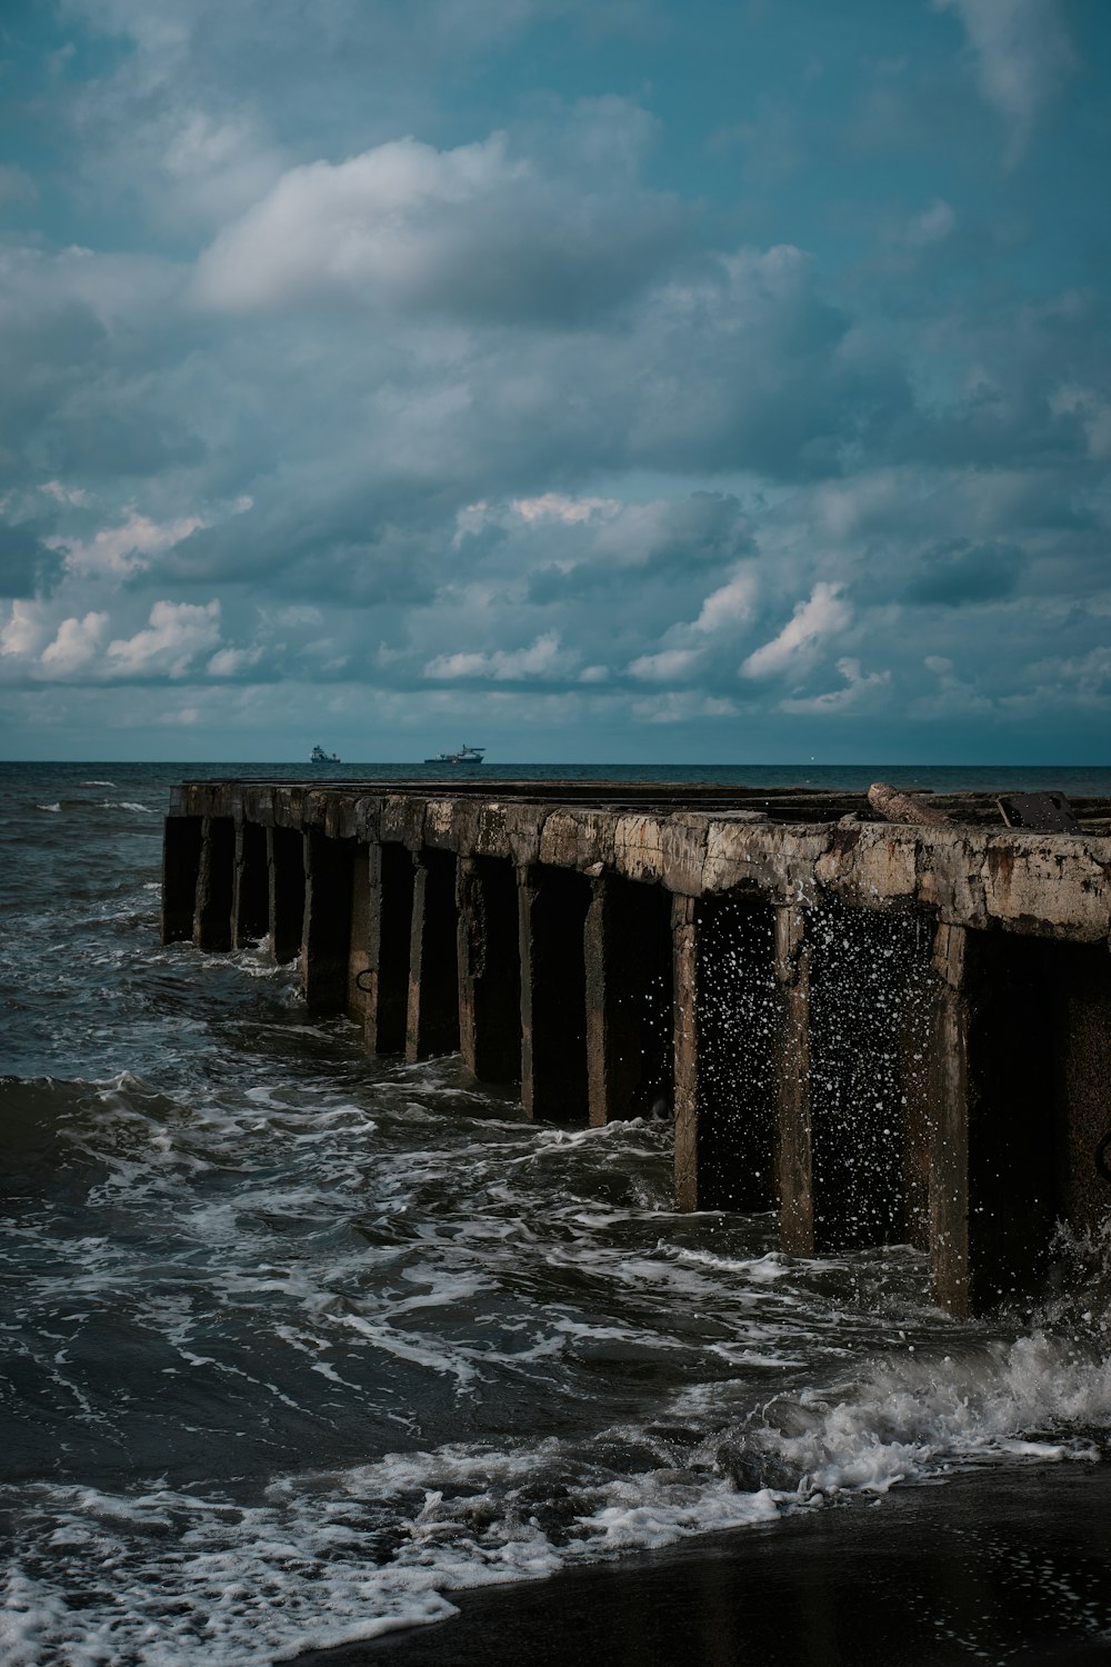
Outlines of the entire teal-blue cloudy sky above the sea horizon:
{"type": "Polygon", "coordinates": [[[3,0],[0,752],[1111,763],[1106,0],[3,0]]]}

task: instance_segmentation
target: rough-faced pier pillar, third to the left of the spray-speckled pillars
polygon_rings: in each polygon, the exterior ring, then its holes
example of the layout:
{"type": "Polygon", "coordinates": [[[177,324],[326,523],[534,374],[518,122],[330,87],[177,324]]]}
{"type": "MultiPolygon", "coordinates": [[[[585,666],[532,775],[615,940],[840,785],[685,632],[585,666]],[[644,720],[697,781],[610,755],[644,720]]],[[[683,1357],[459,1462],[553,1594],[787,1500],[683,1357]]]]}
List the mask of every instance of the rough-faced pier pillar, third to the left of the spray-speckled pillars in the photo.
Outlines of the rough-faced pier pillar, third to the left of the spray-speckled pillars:
{"type": "Polygon", "coordinates": [[[516,874],[495,857],[458,865],[460,1052],[480,1082],[521,1079],[516,874]]]}

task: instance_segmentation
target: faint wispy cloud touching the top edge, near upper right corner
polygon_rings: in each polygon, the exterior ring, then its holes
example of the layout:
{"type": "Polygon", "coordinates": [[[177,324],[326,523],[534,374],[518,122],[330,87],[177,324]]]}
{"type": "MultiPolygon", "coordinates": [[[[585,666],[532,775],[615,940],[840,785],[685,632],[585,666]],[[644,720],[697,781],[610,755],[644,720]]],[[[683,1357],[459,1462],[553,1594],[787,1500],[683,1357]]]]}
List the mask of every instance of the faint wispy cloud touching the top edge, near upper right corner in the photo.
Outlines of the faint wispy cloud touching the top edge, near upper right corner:
{"type": "Polygon", "coordinates": [[[1008,128],[1008,160],[1026,150],[1038,117],[1076,70],[1059,0],[934,0],[956,12],[976,58],[979,90],[1008,128]]]}

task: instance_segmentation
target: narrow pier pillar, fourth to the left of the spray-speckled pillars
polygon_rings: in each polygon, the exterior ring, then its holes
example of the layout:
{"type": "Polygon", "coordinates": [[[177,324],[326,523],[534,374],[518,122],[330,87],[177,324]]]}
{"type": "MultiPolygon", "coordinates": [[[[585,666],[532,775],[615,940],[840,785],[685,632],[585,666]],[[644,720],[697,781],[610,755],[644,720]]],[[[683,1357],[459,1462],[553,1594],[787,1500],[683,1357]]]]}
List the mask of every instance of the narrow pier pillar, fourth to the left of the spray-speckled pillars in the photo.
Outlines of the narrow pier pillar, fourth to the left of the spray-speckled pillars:
{"type": "Polygon", "coordinates": [[[413,884],[405,1057],[431,1059],[458,1045],[455,855],[423,850],[413,884]]]}

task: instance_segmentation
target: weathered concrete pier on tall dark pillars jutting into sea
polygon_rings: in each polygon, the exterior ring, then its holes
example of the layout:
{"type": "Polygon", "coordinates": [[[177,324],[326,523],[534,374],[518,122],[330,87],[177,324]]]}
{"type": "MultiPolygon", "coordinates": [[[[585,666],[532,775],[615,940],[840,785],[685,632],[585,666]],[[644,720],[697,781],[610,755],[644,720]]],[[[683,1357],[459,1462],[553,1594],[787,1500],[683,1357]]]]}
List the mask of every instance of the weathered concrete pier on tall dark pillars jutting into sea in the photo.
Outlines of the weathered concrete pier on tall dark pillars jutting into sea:
{"type": "Polygon", "coordinates": [[[371,1055],[536,1119],[675,1119],[680,1209],[1023,1302],[1111,1207],[1111,805],[605,782],[195,782],[163,942],[300,957],[371,1055]]]}

